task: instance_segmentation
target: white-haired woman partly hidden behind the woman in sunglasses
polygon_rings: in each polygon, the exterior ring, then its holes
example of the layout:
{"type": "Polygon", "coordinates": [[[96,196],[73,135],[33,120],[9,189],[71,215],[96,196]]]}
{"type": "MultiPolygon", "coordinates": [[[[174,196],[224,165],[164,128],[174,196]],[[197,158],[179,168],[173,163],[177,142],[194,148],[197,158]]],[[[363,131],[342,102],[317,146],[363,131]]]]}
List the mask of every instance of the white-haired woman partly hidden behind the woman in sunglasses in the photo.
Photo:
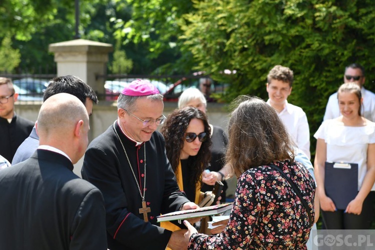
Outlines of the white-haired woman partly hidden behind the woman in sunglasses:
{"type": "MultiPolygon", "coordinates": [[[[203,93],[197,88],[187,88],[178,98],[178,108],[184,108],[186,106],[192,106],[198,108],[203,113],[206,113],[207,102],[204,98],[203,93]]],[[[210,172],[204,172],[202,181],[203,185],[201,186],[201,191],[211,191],[216,180],[221,180],[224,184],[221,193],[221,202],[225,202],[226,193],[228,185],[224,180],[224,172],[220,170],[224,166],[224,157],[225,157],[225,148],[228,143],[228,137],[226,136],[224,130],[212,124],[209,124],[211,128],[211,140],[212,146],[210,147],[211,151],[211,160],[209,165],[206,167],[210,172]]]]}

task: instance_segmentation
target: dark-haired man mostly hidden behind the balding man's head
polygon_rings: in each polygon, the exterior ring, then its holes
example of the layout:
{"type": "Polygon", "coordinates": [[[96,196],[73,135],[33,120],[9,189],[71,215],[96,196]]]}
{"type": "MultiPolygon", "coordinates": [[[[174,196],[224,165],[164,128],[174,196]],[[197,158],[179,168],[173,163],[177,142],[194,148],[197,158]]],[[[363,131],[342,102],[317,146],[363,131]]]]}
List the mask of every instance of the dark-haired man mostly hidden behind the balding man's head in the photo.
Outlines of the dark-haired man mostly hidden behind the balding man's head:
{"type": "MultiPolygon", "coordinates": [[[[69,93],[77,97],[86,107],[88,116],[92,113],[92,104],[98,102],[97,96],[92,88],[80,78],[73,75],[59,76],[53,78],[44,91],[43,101],[57,93],[69,93]]],[[[14,154],[11,164],[14,165],[31,156],[39,145],[39,137],[35,127],[30,135],[19,145],[14,154]]]]}

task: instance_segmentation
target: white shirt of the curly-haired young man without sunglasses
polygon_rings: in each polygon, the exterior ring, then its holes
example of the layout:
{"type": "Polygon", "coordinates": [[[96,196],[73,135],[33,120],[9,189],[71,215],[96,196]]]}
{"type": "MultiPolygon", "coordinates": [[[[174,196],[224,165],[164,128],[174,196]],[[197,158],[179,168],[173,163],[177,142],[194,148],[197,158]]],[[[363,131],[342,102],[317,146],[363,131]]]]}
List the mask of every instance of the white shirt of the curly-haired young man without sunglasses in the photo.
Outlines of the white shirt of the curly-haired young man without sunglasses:
{"type": "MultiPolygon", "coordinates": [[[[269,99],[267,103],[270,104],[269,99]]],[[[278,113],[278,117],[280,117],[286,126],[297,147],[310,158],[310,130],[306,114],[302,108],[290,104],[285,100],[285,108],[278,113]]]]}

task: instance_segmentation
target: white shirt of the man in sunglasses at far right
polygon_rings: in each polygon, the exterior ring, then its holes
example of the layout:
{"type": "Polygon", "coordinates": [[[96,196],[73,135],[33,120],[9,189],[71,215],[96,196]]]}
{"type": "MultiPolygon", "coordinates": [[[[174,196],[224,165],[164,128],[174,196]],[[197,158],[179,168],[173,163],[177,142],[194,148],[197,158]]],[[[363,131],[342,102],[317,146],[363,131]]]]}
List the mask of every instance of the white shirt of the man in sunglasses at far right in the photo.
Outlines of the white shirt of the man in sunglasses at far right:
{"type": "MultiPolygon", "coordinates": [[[[375,94],[364,87],[360,89],[362,94],[363,103],[361,108],[361,115],[375,122],[375,94]]],[[[341,115],[340,109],[338,107],[337,92],[329,96],[327,106],[325,107],[325,113],[323,120],[337,118],[341,115]]]]}

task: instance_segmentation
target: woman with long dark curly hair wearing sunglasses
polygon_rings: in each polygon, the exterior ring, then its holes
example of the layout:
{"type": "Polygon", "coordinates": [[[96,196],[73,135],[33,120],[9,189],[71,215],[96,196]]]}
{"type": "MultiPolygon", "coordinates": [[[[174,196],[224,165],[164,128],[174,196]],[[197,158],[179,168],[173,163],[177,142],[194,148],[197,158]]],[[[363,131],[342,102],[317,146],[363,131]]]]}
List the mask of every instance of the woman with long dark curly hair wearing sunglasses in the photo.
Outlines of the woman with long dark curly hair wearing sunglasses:
{"type": "MultiPolygon", "coordinates": [[[[210,127],[206,115],[194,107],[176,109],[168,115],[161,133],[165,138],[166,156],[176,175],[177,184],[187,198],[198,204],[201,175],[210,159],[210,127]]],[[[179,227],[170,222],[161,225],[169,230],[179,227]]]]}

